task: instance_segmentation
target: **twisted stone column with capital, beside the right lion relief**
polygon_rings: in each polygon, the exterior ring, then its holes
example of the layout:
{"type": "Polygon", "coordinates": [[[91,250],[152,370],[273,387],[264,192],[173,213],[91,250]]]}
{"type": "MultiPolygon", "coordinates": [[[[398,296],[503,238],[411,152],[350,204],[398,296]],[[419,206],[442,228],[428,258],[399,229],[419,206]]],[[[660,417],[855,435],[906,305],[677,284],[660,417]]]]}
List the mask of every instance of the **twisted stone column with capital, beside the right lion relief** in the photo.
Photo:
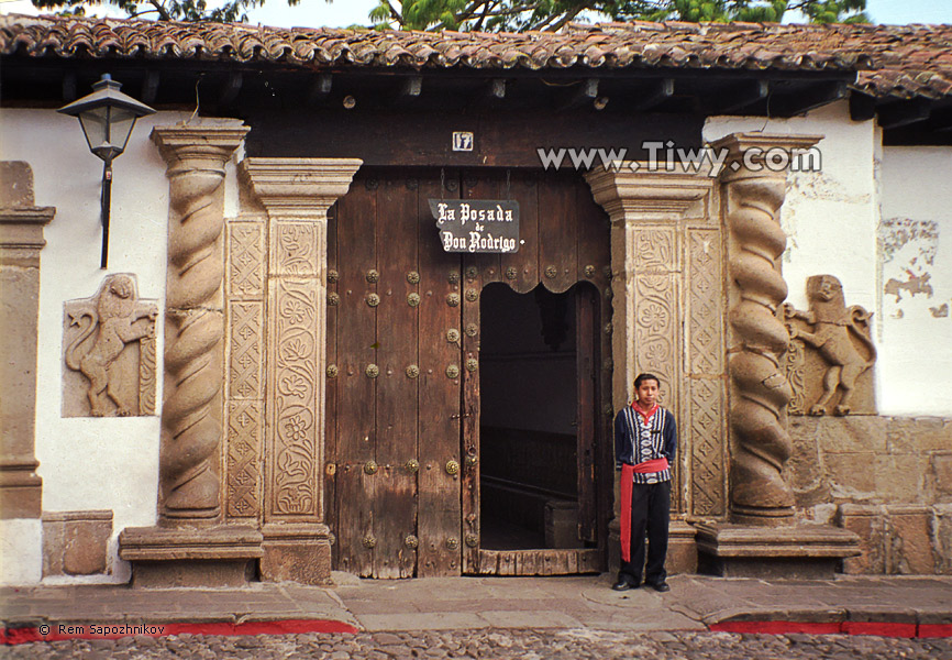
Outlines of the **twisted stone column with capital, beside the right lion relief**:
{"type": "Polygon", "coordinates": [[[787,238],[779,224],[786,169],[751,154],[808,148],[816,136],[733,134],[713,145],[729,150],[721,180],[730,230],[728,353],[732,436],[730,518],[778,526],[794,522],[794,496],[782,474],[792,443],[784,417],[793,396],[781,359],[789,334],[775,312],[787,297],[779,257],[787,238]],[[746,154],[746,158],[744,155],[746,154]]]}

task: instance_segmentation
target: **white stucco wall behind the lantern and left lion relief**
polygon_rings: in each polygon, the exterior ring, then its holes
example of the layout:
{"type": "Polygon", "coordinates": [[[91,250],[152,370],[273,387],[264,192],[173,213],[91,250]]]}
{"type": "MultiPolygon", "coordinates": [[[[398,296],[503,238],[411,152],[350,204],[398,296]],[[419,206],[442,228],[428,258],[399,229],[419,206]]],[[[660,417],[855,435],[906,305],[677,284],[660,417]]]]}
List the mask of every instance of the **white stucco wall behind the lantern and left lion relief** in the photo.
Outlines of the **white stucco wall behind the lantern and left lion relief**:
{"type": "MultiPolygon", "coordinates": [[[[153,127],[188,118],[188,113],[160,112],[141,119],[125,153],[115,160],[109,268],[102,271],[102,162],[89,152],[79,122],[52,109],[0,112],[0,158],[30,163],[35,204],[56,207],[56,216],[45,229],[40,276],[36,459],[43,479],[43,510],[113,512],[111,573],[66,580],[129,580],[129,565],[118,558],[118,536],[125,527],[156,521],[159,418],[60,416],[63,304],[96,295],[108,274],[133,273],[140,298],[157,300],[158,309],[164,309],[168,180],[165,162],[148,138],[153,127]]],[[[232,164],[226,178],[226,215],[236,212],[236,190],[232,164]]],[[[159,318],[157,402],[162,400],[162,326],[159,318]]],[[[0,527],[0,536],[4,539],[0,580],[19,584],[38,580],[38,521],[12,521],[0,527]]]]}

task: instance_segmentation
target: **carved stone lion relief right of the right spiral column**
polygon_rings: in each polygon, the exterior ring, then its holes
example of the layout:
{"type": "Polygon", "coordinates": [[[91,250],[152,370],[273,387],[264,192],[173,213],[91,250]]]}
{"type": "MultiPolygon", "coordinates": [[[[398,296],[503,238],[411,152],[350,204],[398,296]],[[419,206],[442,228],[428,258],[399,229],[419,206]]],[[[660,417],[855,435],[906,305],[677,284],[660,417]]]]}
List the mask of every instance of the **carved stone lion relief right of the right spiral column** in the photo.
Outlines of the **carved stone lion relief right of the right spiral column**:
{"type": "Polygon", "coordinates": [[[872,314],[857,305],[848,308],[843,286],[832,275],[809,277],[807,299],[809,311],[789,304],[781,310],[792,340],[786,355],[794,389],[789,413],[875,415],[872,314]]]}

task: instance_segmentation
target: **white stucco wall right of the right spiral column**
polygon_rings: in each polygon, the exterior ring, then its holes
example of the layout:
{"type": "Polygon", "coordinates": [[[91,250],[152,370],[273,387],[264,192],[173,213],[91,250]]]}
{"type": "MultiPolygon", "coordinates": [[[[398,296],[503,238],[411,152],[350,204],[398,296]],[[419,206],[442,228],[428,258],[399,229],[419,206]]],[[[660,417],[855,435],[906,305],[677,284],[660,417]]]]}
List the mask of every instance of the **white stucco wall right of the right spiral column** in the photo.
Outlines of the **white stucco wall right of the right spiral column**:
{"type": "MultiPolygon", "coordinates": [[[[788,235],[783,257],[787,299],[798,309],[807,309],[807,277],[837,276],[848,306],[861,305],[874,312],[879,413],[952,415],[952,309],[949,317],[934,316],[942,314],[943,304],[952,308],[952,239],[948,239],[952,235],[952,190],[948,184],[952,148],[882,147],[875,123],[851,121],[845,102],[786,120],[711,118],[704,136],[713,141],[735,131],[824,135],[817,145],[822,170],[792,173],[788,178],[781,215],[788,235]],[[911,241],[901,251],[884,255],[881,213],[884,221],[936,222],[938,235],[911,241]],[[932,297],[900,289],[903,300],[895,305],[895,295],[884,297],[885,284],[894,277],[908,283],[903,267],[916,256],[912,251],[918,254],[926,243],[931,245],[934,264],[920,275],[930,275],[932,297]]],[[[918,264],[923,264],[922,257],[918,264]]]]}

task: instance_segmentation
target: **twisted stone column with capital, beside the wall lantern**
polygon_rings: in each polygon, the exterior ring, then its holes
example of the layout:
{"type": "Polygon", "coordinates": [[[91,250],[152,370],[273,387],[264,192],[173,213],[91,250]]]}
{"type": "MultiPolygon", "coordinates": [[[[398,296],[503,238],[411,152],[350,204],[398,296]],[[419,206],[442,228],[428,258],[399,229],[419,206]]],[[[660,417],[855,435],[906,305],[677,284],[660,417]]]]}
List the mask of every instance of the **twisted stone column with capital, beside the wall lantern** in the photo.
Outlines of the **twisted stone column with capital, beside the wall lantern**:
{"type": "Polygon", "coordinates": [[[159,127],[171,217],[165,308],[159,521],[219,517],[225,163],[246,127],[159,127]]]}

